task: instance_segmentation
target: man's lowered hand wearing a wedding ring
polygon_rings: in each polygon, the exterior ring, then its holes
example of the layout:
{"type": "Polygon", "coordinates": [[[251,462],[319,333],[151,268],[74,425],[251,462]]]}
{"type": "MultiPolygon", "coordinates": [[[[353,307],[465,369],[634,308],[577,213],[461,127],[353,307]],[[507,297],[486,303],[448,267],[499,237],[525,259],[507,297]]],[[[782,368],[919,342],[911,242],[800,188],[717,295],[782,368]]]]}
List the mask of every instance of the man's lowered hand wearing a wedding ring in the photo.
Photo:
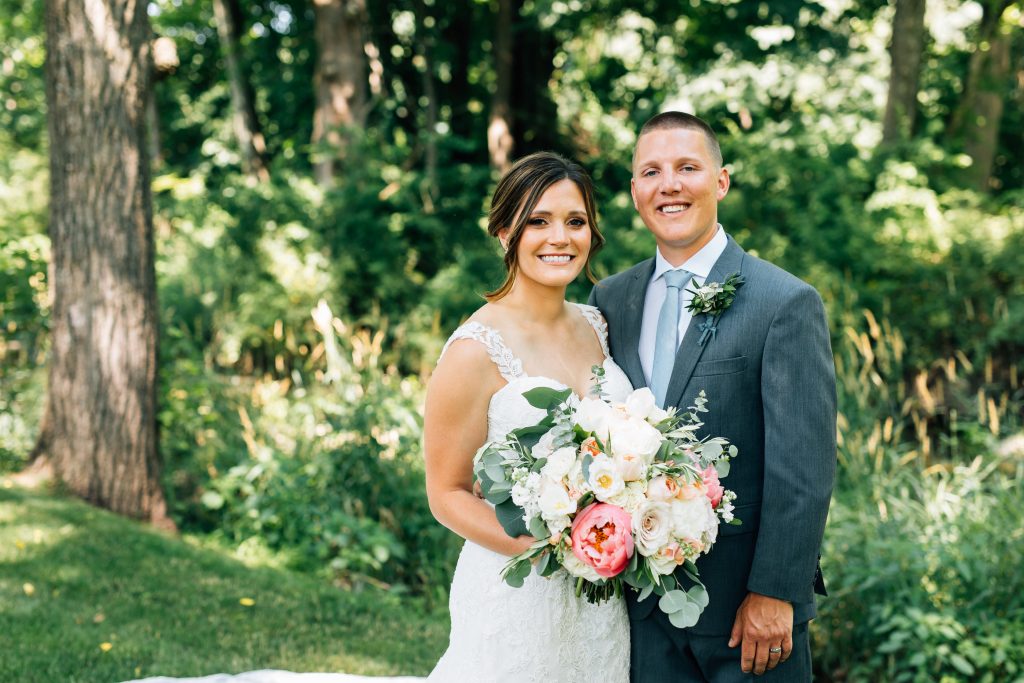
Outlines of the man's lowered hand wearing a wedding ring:
{"type": "Polygon", "coordinates": [[[742,644],[739,666],[761,675],[790,658],[793,651],[793,605],[767,595],[748,593],[736,610],[729,647],[742,644]],[[771,648],[781,648],[772,652],[771,648]]]}

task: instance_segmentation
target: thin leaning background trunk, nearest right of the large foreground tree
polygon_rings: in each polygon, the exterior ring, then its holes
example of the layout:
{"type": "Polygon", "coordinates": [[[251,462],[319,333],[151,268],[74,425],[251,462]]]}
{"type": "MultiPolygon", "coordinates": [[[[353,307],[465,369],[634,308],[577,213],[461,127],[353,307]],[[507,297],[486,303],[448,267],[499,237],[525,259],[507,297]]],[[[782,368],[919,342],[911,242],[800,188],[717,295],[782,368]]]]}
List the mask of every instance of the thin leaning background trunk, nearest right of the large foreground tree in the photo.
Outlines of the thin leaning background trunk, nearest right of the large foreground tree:
{"type": "Polygon", "coordinates": [[[242,152],[242,168],[258,180],[267,180],[270,174],[266,167],[266,141],[256,117],[252,84],[246,78],[242,65],[240,41],[243,20],[239,0],[213,0],[213,13],[231,86],[231,123],[242,152]]]}

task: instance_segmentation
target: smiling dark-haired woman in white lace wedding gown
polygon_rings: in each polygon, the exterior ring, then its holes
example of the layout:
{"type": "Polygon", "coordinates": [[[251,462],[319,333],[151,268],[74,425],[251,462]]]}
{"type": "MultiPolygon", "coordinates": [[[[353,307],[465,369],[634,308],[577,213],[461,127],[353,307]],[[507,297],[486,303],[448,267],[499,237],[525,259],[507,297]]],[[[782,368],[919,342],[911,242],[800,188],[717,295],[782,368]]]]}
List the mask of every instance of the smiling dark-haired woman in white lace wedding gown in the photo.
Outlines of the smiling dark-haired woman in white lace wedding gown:
{"type": "Polygon", "coordinates": [[[427,389],[427,497],[439,522],[466,539],[450,607],[447,651],[428,681],[629,680],[629,622],[623,600],[577,598],[562,570],[531,574],[521,588],[500,572],[530,537],[510,538],[494,509],[473,495],[473,456],[485,441],[536,423],[543,413],[522,392],[538,386],[591,392],[604,368],[604,395],[631,386],[608,354],[596,308],[565,301],[604,239],[590,178],[552,153],[518,161],[499,182],[488,232],[505,250],[508,276],[449,339],[427,389]]]}

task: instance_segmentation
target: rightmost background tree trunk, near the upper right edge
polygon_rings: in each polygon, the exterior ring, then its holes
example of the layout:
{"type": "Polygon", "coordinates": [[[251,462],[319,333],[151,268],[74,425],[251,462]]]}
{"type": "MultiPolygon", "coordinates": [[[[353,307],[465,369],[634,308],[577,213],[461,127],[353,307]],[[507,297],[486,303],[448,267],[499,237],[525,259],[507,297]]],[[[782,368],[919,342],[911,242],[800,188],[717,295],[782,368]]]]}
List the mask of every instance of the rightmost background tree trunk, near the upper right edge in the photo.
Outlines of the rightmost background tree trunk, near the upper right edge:
{"type": "Polygon", "coordinates": [[[964,97],[950,124],[951,136],[963,140],[964,152],[972,159],[965,171],[965,181],[981,191],[990,189],[1004,97],[1011,89],[1010,36],[1001,20],[1011,4],[1010,0],[983,3],[977,48],[968,66],[964,97]]]}

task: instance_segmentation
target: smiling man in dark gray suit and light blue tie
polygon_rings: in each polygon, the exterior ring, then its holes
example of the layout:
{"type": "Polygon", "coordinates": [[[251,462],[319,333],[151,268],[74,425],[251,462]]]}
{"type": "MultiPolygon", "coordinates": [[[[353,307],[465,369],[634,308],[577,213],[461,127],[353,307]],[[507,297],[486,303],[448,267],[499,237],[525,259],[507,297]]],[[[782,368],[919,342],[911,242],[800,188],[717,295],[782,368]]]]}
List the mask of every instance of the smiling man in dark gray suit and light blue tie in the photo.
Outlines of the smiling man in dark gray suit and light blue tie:
{"type": "Polygon", "coordinates": [[[711,602],[692,628],[672,626],[657,596],[637,602],[629,593],[631,680],[810,681],[807,624],[813,594],[824,592],[817,560],[836,472],[821,299],[718,224],[729,173],[700,119],[666,112],[644,124],[631,191],[657,252],[602,281],[590,303],[607,318],[612,356],[634,387],[681,410],[707,392],[702,432],[739,450],[725,485],[742,520],[722,525],[696,563],[711,602]],[[744,284],[717,317],[687,309],[687,290],[733,273],[744,284]]]}

